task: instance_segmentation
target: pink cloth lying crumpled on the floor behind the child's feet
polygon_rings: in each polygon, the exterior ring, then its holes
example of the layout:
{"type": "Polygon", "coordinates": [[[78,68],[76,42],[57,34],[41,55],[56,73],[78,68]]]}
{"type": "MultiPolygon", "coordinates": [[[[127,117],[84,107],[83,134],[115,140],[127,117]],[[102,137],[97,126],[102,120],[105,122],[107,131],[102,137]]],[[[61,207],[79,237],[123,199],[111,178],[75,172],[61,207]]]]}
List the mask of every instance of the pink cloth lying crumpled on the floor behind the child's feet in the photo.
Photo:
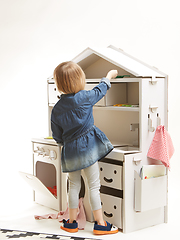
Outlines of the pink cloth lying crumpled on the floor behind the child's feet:
{"type": "MultiPolygon", "coordinates": [[[[63,219],[65,220],[69,219],[69,208],[67,207],[66,211],[60,211],[57,214],[46,214],[42,216],[35,215],[34,217],[36,220],[58,219],[59,222],[62,222],[63,219]]],[[[78,215],[76,220],[78,222],[78,228],[84,229],[86,225],[86,215],[85,215],[84,206],[83,206],[83,198],[79,199],[78,215]]]]}

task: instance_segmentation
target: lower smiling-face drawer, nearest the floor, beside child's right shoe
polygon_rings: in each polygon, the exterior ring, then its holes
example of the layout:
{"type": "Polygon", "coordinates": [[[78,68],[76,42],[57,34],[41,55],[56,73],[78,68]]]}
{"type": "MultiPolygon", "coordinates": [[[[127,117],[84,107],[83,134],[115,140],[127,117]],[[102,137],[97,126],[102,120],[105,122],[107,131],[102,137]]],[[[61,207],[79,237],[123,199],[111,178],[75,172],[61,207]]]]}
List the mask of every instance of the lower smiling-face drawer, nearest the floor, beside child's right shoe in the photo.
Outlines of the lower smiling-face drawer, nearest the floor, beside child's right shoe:
{"type": "Polygon", "coordinates": [[[122,229],[122,198],[101,193],[104,220],[122,229]]]}

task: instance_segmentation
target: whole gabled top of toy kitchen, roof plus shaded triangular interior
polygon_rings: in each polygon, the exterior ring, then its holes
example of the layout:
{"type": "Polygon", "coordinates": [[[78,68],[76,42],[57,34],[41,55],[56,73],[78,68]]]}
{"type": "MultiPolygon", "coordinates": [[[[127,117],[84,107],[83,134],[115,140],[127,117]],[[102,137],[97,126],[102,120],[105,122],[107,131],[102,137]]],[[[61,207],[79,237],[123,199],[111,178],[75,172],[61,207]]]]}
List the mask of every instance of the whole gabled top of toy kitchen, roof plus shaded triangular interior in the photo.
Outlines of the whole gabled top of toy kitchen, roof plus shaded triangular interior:
{"type": "Polygon", "coordinates": [[[165,77],[158,69],[128,55],[123,50],[109,46],[104,49],[86,48],[72,61],[78,63],[87,78],[101,78],[115,68],[119,75],[128,77],[165,77]]]}

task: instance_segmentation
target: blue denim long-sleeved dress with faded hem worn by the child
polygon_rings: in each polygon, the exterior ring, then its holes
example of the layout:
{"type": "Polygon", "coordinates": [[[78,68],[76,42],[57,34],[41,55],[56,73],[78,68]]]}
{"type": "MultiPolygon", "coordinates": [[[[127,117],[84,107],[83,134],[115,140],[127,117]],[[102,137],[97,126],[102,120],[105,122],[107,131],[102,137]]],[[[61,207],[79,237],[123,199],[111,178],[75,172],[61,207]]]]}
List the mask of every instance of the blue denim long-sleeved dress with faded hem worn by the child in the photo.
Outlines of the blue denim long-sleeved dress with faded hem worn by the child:
{"type": "MultiPolygon", "coordinates": [[[[93,106],[111,87],[107,78],[90,91],[62,94],[51,114],[52,136],[63,145],[63,172],[73,172],[91,166],[105,157],[113,146],[106,135],[94,126],[93,106]]],[[[103,119],[102,119],[103,121],[103,119]]]]}

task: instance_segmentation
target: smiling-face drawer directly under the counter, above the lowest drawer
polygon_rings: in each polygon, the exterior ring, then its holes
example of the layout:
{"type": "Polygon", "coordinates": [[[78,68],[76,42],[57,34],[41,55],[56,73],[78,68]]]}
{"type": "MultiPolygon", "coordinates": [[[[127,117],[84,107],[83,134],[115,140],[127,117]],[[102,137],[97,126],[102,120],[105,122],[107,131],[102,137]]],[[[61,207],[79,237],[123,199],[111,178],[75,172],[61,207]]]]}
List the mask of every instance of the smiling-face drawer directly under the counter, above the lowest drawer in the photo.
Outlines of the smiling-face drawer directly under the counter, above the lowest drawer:
{"type": "Polygon", "coordinates": [[[123,189],[122,166],[99,162],[101,185],[123,189]]]}

